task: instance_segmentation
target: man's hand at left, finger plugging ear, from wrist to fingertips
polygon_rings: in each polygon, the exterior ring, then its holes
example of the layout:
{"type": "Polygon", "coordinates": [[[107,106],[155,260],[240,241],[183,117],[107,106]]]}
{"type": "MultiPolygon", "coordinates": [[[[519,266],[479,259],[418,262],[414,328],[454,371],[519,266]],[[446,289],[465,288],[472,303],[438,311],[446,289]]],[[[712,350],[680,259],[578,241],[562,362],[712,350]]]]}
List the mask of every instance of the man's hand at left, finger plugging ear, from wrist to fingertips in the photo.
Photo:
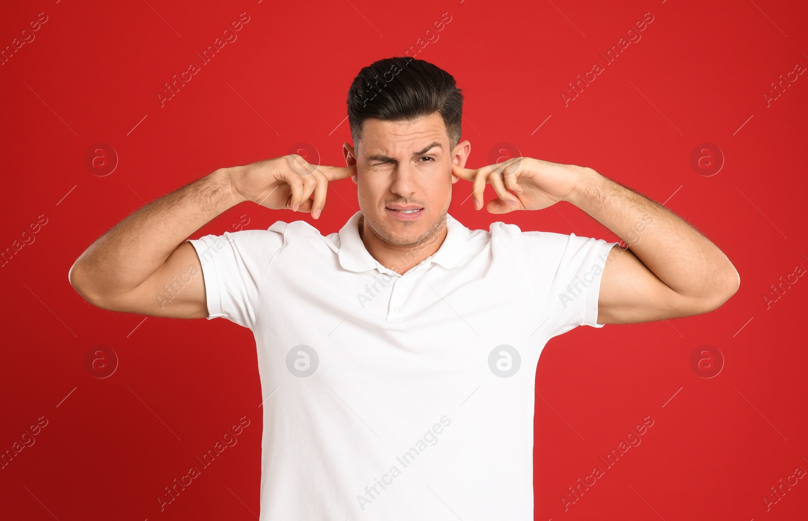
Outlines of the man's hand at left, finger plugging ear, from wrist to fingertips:
{"type": "Polygon", "coordinates": [[[273,210],[311,212],[314,219],[326,205],[328,182],[356,175],[356,166],[312,165],[297,153],[226,170],[234,194],[243,200],[273,210]]]}

